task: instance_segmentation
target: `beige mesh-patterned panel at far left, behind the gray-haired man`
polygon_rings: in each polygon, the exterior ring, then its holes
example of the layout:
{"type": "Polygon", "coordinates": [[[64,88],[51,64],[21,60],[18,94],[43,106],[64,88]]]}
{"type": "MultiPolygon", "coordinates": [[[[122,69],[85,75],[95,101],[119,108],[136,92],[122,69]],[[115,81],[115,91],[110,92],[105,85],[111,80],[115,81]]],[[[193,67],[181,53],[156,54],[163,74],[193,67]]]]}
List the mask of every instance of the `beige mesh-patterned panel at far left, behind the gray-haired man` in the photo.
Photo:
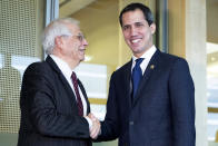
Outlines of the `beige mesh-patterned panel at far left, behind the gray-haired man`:
{"type": "Polygon", "coordinates": [[[0,1],[0,145],[17,145],[24,69],[41,60],[43,0],[0,1]]]}

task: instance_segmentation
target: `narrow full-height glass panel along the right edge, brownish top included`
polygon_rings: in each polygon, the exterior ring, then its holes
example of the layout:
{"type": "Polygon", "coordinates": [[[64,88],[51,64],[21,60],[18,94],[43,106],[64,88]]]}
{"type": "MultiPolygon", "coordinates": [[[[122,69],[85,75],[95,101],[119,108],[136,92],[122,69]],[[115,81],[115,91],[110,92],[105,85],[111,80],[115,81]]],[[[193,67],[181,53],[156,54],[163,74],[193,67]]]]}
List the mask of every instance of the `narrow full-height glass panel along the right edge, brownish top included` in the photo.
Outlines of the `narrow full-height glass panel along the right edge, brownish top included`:
{"type": "Polygon", "coordinates": [[[218,145],[218,1],[206,1],[207,18],[207,98],[209,146],[218,145]]]}

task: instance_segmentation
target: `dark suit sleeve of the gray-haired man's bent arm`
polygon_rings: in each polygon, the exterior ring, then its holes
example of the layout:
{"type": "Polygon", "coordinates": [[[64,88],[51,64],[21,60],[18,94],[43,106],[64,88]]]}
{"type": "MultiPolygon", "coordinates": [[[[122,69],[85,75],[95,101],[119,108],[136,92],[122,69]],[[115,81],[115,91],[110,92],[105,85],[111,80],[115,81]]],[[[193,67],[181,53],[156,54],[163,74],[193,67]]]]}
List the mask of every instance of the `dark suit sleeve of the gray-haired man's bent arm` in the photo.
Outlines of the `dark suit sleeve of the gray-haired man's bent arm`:
{"type": "Polygon", "coordinates": [[[57,110],[54,88],[46,76],[48,72],[42,70],[29,68],[21,89],[21,110],[23,106],[28,107],[23,113],[33,129],[44,136],[89,138],[89,125],[83,117],[63,115],[57,110]]]}

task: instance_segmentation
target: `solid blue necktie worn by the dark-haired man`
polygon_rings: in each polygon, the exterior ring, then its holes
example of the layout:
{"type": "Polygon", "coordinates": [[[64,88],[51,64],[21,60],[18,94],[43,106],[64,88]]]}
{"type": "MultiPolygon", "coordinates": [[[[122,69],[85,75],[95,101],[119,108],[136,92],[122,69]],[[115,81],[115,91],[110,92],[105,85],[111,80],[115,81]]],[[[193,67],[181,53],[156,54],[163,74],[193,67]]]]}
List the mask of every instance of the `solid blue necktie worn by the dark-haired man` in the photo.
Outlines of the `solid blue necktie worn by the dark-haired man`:
{"type": "Polygon", "coordinates": [[[132,89],[133,89],[133,97],[136,96],[138,86],[139,86],[139,81],[142,77],[142,71],[140,68],[140,64],[142,62],[143,58],[138,58],[136,59],[136,65],[132,69],[132,75],[131,75],[131,79],[132,79],[132,89]]]}

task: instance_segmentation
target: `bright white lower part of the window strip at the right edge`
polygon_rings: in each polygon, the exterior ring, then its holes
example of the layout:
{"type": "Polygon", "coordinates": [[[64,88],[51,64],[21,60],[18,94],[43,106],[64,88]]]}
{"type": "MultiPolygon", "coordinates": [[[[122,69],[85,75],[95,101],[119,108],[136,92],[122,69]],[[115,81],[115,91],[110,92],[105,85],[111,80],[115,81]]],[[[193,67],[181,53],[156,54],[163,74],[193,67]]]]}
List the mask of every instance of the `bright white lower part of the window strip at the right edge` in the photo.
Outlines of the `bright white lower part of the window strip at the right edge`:
{"type": "Polygon", "coordinates": [[[218,142],[218,43],[207,42],[208,140],[218,142]]]}

